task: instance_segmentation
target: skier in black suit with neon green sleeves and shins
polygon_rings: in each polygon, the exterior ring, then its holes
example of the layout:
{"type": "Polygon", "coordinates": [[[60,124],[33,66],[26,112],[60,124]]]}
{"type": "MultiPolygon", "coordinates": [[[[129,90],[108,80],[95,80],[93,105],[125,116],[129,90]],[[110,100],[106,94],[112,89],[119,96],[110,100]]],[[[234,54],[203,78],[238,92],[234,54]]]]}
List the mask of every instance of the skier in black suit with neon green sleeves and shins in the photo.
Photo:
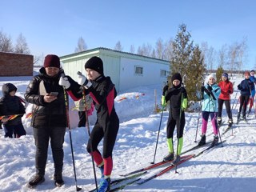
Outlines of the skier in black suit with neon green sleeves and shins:
{"type": "Polygon", "coordinates": [[[182,86],[182,76],[179,73],[171,77],[172,87],[167,90],[165,86],[162,93],[162,106],[170,101],[170,112],[167,122],[166,138],[169,154],[163,158],[163,161],[173,161],[174,164],[180,161],[180,154],[183,146],[183,130],[185,126],[185,112],[187,107],[186,89],[182,86]],[[174,129],[177,126],[178,149],[174,157],[174,129]]]}

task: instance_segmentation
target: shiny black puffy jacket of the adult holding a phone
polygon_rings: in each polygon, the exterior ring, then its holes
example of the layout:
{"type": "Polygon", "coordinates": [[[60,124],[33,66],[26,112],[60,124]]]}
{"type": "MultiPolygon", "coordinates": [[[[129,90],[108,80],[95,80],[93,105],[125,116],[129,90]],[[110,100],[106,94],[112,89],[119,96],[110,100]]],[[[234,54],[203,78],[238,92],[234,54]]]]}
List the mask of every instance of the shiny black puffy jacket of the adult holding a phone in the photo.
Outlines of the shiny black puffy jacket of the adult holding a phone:
{"type": "Polygon", "coordinates": [[[26,101],[33,103],[31,126],[66,127],[64,90],[58,85],[63,71],[60,70],[54,77],[48,76],[44,67],[39,72],[30,81],[25,94],[26,101]],[[50,92],[58,92],[58,98],[54,102],[44,102],[44,95],[50,92]]]}

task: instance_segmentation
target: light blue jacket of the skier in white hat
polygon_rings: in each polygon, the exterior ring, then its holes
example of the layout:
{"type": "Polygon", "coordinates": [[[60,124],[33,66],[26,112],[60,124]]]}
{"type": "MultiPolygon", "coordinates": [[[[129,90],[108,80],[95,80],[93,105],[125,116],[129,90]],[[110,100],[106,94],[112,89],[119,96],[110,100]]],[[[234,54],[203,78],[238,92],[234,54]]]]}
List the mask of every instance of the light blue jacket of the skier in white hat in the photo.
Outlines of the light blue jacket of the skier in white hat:
{"type": "MultiPolygon", "coordinates": [[[[207,89],[208,86],[210,85],[207,84],[205,89],[207,89]]],[[[214,98],[211,94],[206,94],[206,91],[203,92],[202,111],[218,112],[218,96],[221,93],[221,89],[216,83],[211,85],[211,87],[213,88],[212,93],[214,94],[214,98]]]]}

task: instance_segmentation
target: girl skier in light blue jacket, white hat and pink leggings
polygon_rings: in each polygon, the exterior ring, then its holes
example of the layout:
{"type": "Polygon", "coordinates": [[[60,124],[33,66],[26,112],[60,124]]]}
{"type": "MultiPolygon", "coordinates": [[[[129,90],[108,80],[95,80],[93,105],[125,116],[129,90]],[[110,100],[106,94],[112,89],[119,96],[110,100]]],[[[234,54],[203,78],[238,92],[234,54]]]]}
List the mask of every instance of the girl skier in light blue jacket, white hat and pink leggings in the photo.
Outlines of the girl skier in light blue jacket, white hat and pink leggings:
{"type": "Polygon", "coordinates": [[[218,143],[218,96],[221,93],[221,88],[215,82],[214,74],[210,74],[206,78],[206,86],[201,87],[202,92],[202,135],[198,146],[206,144],[206,130],[208,124],[208,118],[211,118],[211,124],[214,129],[214,141],[211,146],[215,146],[218,143]]]}

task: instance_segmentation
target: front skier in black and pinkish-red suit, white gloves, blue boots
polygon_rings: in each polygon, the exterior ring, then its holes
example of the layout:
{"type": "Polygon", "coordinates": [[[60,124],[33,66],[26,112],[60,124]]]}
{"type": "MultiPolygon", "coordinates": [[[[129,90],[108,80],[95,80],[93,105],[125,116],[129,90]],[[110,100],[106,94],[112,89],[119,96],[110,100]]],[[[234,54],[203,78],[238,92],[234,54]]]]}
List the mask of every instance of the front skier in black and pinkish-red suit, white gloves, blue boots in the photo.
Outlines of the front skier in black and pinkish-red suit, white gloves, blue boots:
{"type": "Polygon", "coordinates": [[[93,155],[94,162],[101,170],[102,178],[99,184],[99,192],[110,190],[110,175],[113,170],[112,151],[119,129],[118,115],[114,109],[114,98],[117,92],[110,77],[103,74],[103,62],[101,58],[92,57],[85,64],[88,79],[78,75],[78,83],[70,81],[70,78],[61,78],[59,85],[65,86],[74,100],[82,98],[79,94],[81,86],[85,88],[86,94],[94,100],[97,110],[97,121],[90,134],[87,143],[87,151],[93,155]],[[70,90],[70,87],[77,91],[70,90]],[[103,153],[98,150],[98,144],[103,140],[103,153]]]}

